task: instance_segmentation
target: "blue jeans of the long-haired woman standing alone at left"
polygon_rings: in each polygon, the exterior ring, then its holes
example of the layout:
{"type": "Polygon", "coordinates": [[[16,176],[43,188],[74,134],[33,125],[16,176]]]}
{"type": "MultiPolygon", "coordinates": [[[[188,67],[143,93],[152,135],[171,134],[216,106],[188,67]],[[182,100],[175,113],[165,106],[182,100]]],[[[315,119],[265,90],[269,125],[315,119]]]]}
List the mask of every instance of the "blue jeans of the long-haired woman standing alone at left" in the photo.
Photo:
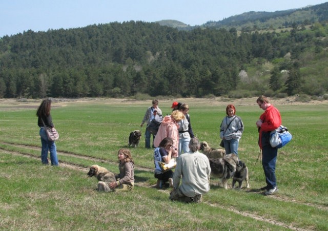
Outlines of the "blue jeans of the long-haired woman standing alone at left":
{"type": "Polygon", "coordinates": [[[50,160],[51,165],[58,166],[58,157],[57,157],[57,149],[54,141],[50,141],[48,139],[46,130],[44,128],[40,128],[40,137],[41,137],[41,161],[43,164],[49,164],[48,161],[48,151],[50,151],[50,160]]]}

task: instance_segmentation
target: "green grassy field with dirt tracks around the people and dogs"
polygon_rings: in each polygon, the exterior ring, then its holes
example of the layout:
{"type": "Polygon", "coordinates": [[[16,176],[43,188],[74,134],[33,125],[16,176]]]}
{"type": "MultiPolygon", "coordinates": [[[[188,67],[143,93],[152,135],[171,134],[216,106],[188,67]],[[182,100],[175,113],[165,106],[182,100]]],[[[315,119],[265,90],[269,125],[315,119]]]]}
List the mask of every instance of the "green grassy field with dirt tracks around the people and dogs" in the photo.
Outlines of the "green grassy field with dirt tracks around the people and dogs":
{"type": "MultiPolygon", "coordinates": [[[[277,103],[282,123],[293,140],[280,149],[279,192],[263,196],[265,185],[255,121],[263,112],[256,99],[233,103],[245,126],[239,157],[249,167],[247,190],[224,190],[211,179],[201,204],[168,200],[169,189],[152,187],[153,151],[144,136],[136,149],[136,187],[129,193],[98,193],[92,164],[117,173],[117,151],[128,145],[129,133],[140,123],[151,100],[93,99],[54,101],[52,117],[59,167],[40,161],[36,109],[40,100],[0,101],[0,229],[3,230],[327,230],[328,102],[277,103]]],[[[172,100],[160,100],[163,114],[172,100]]],[[[230,101],[181,99],[190,106],[194,134],[218,148],[219,125],[230,101]]],[[[273,101],[274,102],[274,101],[273,101]]],[[[145,128],[141,128],[144,135],[145,128]]],[[[231,186],[231,180],[229,181],[231,186]]]]}

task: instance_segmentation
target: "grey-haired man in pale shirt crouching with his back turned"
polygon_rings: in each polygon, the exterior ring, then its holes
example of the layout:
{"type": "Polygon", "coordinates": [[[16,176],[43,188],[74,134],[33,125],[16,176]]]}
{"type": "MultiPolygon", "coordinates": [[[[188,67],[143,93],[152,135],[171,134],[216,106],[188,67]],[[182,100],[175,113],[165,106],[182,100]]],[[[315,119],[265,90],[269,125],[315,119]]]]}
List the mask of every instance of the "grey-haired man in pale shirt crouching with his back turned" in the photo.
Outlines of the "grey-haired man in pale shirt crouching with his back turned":
{"type": "Polygon", "coordinates": [[[173,191],[170,193],[172,201],[201,202],[203,194],[210,190],[211,167],[208,157],[200,152],[197,138],[189,142],[189,153],[177,158],[173,174],[173,191]],[[180,184],[181,179],[181,184],[180,184]]]}

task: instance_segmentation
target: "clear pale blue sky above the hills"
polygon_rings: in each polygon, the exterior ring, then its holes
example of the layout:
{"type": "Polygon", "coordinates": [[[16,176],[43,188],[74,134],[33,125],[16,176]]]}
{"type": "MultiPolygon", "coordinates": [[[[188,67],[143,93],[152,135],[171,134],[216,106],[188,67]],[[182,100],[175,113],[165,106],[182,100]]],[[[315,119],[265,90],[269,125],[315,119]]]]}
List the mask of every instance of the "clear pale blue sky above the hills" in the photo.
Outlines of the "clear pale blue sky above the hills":
{"type": "Polygon", "coordinates": [[[249,11],[288,10],[327,0],[0,0],[0,37],[27,30],[175,19],[191,26],[249,11]]]}

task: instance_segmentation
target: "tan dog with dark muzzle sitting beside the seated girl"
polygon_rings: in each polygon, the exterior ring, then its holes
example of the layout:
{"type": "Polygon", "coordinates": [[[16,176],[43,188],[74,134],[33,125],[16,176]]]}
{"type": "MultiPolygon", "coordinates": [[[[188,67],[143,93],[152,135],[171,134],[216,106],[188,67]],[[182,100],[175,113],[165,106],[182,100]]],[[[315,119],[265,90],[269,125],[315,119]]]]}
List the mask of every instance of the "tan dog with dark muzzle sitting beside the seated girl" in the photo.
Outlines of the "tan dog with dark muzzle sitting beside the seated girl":
{"type": "Polygon", "coordinates": [[[108,183],[116,181],[114,173],[108,171],[105,167],[99,165],[92,165],[89,172],[89,177],[96,177],[98,179],[97,190],[98,192],[110,192],[111,189],[108,183]]]}

